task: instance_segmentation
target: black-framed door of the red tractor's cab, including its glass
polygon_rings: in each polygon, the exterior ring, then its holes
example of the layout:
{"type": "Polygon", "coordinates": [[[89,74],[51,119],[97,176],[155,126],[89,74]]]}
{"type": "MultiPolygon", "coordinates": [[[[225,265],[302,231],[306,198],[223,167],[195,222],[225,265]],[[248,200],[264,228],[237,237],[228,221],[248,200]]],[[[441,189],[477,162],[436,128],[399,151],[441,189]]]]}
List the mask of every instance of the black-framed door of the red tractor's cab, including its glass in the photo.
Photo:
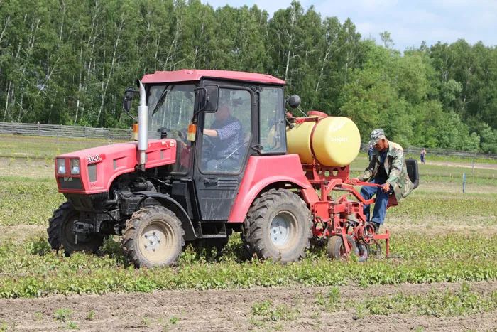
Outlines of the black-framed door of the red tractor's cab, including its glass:
{"type": "Polygon", "coordinates": [[[202,220],[228,220],[251,153],[256,94],[220,86],[217,112],[203,112],[197,132],[195,187],[202,220]]]}

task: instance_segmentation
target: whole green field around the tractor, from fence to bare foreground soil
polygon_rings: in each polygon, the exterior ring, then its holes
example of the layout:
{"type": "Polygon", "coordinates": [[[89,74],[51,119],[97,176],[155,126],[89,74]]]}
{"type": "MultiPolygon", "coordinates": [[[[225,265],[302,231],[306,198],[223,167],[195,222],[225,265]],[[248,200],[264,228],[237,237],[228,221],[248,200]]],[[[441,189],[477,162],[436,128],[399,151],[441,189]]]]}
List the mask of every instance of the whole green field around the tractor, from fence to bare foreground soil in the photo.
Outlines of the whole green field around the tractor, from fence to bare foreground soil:
{"type": "MultiPolygon", "coordinates": [[[[281,266],[241,259],[238,234],[231,237],[220,257],[214,259],[214,253],[190,247],[179,266],[169,269],[128,267],[116,238],[106,242],[100,257],[64,257],[50,250],[46,241],[47,220],[65,199],[53,179],[53,161],[42,157],[98,146],[102,141],[81,144],[69,139],[64,143],[60,149],[53,139],[21,138],[0,146],[0,155],[6,155],[0,158],[0,195],[4,198],[0,200],[0,297],[497,279],[497,186],[491,179],[479,178],[466,183],[463,194],[455,178],[468,171],[467,165],[420,165],[419,188],[388,210],[391,250],[401,258],[371,259],[366,264],[354,259],[330,262],[323,250],[312,250],[303,262],[281,266]],[[9,156],[12,151],[16,151],[13,157],[9,156]],[[447,174],[453,174],[454,181],[444,181],[447,174]]],[[[351,170],[359,173],[366,164],[359,157],[351,170]]],[[[479,168],[476,174],[491,178],[494,172],[479,168]]]]}

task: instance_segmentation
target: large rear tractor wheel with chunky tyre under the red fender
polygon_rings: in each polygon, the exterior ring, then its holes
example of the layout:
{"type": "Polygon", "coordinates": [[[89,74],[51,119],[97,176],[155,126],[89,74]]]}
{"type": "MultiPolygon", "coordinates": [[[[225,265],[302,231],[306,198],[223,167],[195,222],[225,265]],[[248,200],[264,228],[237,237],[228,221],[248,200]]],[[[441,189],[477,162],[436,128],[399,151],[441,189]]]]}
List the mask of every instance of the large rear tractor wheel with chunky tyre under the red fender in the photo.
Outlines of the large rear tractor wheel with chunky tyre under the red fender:
{"type": "Polygon", "coordinates": [[[280,263],[305,257],[312,238],[310,211],[295,193],[272,189],[253,201],[242,240],[250,255],[280,263]]]}

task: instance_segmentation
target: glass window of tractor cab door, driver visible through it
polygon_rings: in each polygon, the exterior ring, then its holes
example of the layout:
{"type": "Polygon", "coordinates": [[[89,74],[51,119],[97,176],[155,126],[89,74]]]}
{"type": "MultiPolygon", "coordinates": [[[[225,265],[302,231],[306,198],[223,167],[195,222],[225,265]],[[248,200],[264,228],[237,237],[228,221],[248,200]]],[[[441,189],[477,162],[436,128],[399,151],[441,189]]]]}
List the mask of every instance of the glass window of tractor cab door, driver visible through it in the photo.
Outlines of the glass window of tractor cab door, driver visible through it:
{"type": "Polygon", "coordinates": [[[215,113],[205,113],[200,171],[239,173],[252,133],[251,94],[219,89],[215,113]]]}

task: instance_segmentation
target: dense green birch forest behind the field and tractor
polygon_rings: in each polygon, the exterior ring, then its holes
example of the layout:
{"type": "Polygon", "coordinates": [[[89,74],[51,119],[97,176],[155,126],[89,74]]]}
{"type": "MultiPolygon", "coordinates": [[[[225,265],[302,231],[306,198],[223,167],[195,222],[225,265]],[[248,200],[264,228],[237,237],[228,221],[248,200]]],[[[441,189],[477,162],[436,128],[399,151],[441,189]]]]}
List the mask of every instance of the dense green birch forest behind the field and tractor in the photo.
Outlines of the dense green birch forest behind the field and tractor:
{"type": "Polygon", "coordinates": [[[497,49],[464,40],[403,54],[390,34],[294,1],[0,0],[0,121],[129,127],[121,95],[137,77],[183,68],[268,73],[305,110],[383,127],[404,146],[497,153],[497,49]],[[378,45],[381,44],[381,45],[378,45]]]}

